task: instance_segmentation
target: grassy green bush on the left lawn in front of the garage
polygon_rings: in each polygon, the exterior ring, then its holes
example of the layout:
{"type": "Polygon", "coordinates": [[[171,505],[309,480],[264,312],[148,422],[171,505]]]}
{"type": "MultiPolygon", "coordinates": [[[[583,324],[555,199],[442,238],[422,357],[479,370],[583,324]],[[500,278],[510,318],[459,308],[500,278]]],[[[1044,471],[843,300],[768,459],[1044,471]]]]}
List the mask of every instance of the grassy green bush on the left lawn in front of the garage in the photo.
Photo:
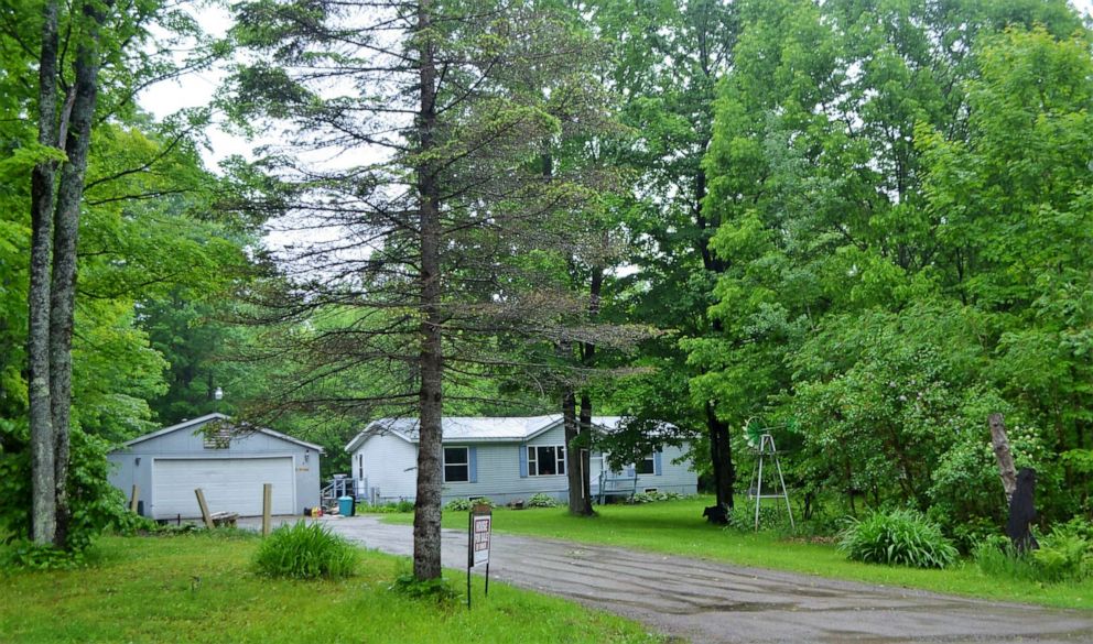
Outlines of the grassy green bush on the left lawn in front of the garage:
{"type": "Polygon", "coordinates": [[[255,555],[258,571],[269,577],[339,579],[354,574],[357,548],[321,523],[282,525],[262,541],[255,555]]]}

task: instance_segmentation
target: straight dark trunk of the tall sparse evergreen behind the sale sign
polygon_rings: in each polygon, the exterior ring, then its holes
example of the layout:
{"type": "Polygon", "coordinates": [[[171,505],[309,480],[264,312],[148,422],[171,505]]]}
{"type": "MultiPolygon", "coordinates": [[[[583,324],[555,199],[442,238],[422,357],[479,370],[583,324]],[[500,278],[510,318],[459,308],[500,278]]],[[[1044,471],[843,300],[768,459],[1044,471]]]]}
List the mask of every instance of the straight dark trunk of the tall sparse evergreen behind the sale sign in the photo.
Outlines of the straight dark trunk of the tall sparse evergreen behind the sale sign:
{"type": "MultiPolygon", "coordinates": [[[[418,6],[418,32],[428,33],[431,25],[430,2],[418,6]]],[[[433,44],[423,37],[419,78],[421,108],[418,114],[421,148],[425,161],[418,167],[418,190],[421,236],[421,392],[419,396],[418,492],[413,517],[413,575],[419,581],[441,576],[441,488],[443,484],[443,447],[441,414],[443,413],[443,347],[441,342],[441,262],[440,262],[440,185],[435,163],[429,152],[435,148],[436,66],[433,44]]]]}

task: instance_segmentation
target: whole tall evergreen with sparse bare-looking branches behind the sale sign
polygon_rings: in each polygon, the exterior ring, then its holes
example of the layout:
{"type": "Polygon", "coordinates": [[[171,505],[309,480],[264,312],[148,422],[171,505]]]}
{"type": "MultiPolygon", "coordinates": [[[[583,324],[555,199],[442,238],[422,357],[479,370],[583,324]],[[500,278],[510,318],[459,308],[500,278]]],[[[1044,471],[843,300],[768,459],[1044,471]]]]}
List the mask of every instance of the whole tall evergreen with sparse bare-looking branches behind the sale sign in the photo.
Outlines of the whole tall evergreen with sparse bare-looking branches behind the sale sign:
{"type": "Polygon", "coordinates": [[[524,1],[260,0],[237,13],[240,43],[271,63],[235,76],[236,113],[280,122],[291,145],[267,160],[284,186],[271,206],[334,231],[288,253],[263,302],[313,325],[293,328],[310,371],[286,400],[416,415],[414,575],[436,578],[441,415],[461,397],[445,383],[513,367],[493,338],[538,335],[571,307],[531,293],[541,281],[512,258],[556,248],[555,215],[588,198],[576,171],[544,178],[539,144],[595,111],[592,45],[524,1]],[[324,316],[342,321],[315,327],[324,316]],[[360,364],[383,374],[367,395],[350,381],[360,364]]]}

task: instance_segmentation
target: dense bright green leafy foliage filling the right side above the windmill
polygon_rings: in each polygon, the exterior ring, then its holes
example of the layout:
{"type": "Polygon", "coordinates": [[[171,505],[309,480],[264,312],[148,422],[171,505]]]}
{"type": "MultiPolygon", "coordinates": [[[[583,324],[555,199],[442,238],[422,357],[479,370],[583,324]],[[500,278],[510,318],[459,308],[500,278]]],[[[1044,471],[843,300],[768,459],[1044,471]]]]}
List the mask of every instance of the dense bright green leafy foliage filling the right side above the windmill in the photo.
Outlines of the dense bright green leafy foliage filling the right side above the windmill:
{"type": "Polygon", "coordinates": [[[1004,520],[993,412],[1045,481],[1043,514],[1087,507],[1093,57],[1076,14],[739,11],[704,161],[717,332],[681,341],[697,401],[734,427],[798,419],[779,438],[791,487],[852,512],[863,494],[930,509],[963,547],[1004,520]],[[956,33],[966,55],[937,42],[956,33]]]}

